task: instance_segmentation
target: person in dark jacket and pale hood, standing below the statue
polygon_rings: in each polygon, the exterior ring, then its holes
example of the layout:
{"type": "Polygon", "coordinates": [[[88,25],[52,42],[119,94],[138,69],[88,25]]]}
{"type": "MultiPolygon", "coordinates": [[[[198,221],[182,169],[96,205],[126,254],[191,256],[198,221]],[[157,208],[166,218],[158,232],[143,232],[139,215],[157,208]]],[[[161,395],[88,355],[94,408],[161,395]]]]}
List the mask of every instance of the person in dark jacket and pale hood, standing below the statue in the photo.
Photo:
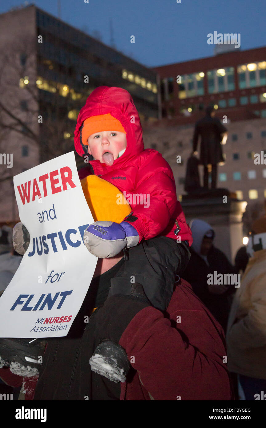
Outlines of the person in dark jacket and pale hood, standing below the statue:
{"type": "Polygon", "coordinates": [[[190,222],[193,244],[190,249],[189,263],[182,273],[182,278],[189,282],[195,294],[215,316],[226,331],[230,311],[230,299],[236,291],[235,284],[216,285],[208,284],[210,274],[215,278],[219,273],[236,274],[235,268],[228,261],[225,254],[213,246],[215,236],[212,227],[203,220],[194,219],[190,222]]]}

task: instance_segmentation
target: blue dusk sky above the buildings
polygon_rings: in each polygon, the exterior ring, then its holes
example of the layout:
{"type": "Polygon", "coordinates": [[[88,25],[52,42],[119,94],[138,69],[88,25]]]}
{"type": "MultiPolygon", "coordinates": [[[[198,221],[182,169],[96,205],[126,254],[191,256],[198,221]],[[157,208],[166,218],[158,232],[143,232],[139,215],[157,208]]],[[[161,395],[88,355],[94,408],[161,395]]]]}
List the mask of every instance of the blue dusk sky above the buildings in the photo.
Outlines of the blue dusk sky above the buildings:
{"type": "MultiPolygon", "coordinates": [[[[55,16],[57,3],[35,1],[55,16]]],[[[0,13],[21,4],[1,2],[0,13]]],[[[89,34],[99,31],[110,45],[112,18],[116,49],[152,67],[213,55],[207,34],[215,31],[240,33],[241,50],[266,46],[265,5],[265,0],[61,0],[61,19],[89,34]]]]}

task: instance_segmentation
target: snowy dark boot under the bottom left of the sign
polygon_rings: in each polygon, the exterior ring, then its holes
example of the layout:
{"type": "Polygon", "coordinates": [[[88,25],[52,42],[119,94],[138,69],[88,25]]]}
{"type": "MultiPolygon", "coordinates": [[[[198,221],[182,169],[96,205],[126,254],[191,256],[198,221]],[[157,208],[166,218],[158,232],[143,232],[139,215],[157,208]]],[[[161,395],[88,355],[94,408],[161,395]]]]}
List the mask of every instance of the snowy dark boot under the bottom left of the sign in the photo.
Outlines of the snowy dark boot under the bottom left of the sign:
{"type": "Polygon", "coordinates": [[[0,368],[9,366],[14,375],[38,375],[45,341],[40,339],[0,339],[0,368]],[[40,358],[41,357],[41,358],[40,358]]]}

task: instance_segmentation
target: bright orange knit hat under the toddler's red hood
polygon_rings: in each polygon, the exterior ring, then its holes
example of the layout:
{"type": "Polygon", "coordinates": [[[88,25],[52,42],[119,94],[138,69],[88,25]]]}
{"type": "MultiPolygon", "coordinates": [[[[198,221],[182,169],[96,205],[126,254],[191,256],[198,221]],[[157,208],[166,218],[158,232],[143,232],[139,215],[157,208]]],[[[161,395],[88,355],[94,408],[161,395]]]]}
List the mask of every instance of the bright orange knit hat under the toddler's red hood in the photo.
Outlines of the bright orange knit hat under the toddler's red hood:
{"type": "Polygon", "coordinates": [[[89,136],[101,131],[118,131],[127,134],[121,122],[118,119],[115,119],[115,117],[110,113],[100,114],[84,120],[83,128],[81,130],[82,143],[85,146],[88,146],[89,136]]]}

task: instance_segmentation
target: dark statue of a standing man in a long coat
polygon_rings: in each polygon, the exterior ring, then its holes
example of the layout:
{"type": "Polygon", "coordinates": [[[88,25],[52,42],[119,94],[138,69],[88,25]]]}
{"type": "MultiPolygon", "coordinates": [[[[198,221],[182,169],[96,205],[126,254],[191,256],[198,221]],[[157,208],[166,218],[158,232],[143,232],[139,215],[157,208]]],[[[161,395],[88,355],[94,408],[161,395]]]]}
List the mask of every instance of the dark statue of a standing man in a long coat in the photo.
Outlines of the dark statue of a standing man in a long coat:
{"type": "Polygon", "coordinates": [[[228,133],[219,119],[214,117],[215,110],[212,107],[207,107],[205,111],[206,116],[195,124],[192,154],[198,154],[198,138],[201,137],[200,164],[204,165],[204,187],[208,188],[208,165],[210,164],[212,166],[211,188],[216,189],[217,163],[224,162],[221,143],[226,143],[228,133]]]}

